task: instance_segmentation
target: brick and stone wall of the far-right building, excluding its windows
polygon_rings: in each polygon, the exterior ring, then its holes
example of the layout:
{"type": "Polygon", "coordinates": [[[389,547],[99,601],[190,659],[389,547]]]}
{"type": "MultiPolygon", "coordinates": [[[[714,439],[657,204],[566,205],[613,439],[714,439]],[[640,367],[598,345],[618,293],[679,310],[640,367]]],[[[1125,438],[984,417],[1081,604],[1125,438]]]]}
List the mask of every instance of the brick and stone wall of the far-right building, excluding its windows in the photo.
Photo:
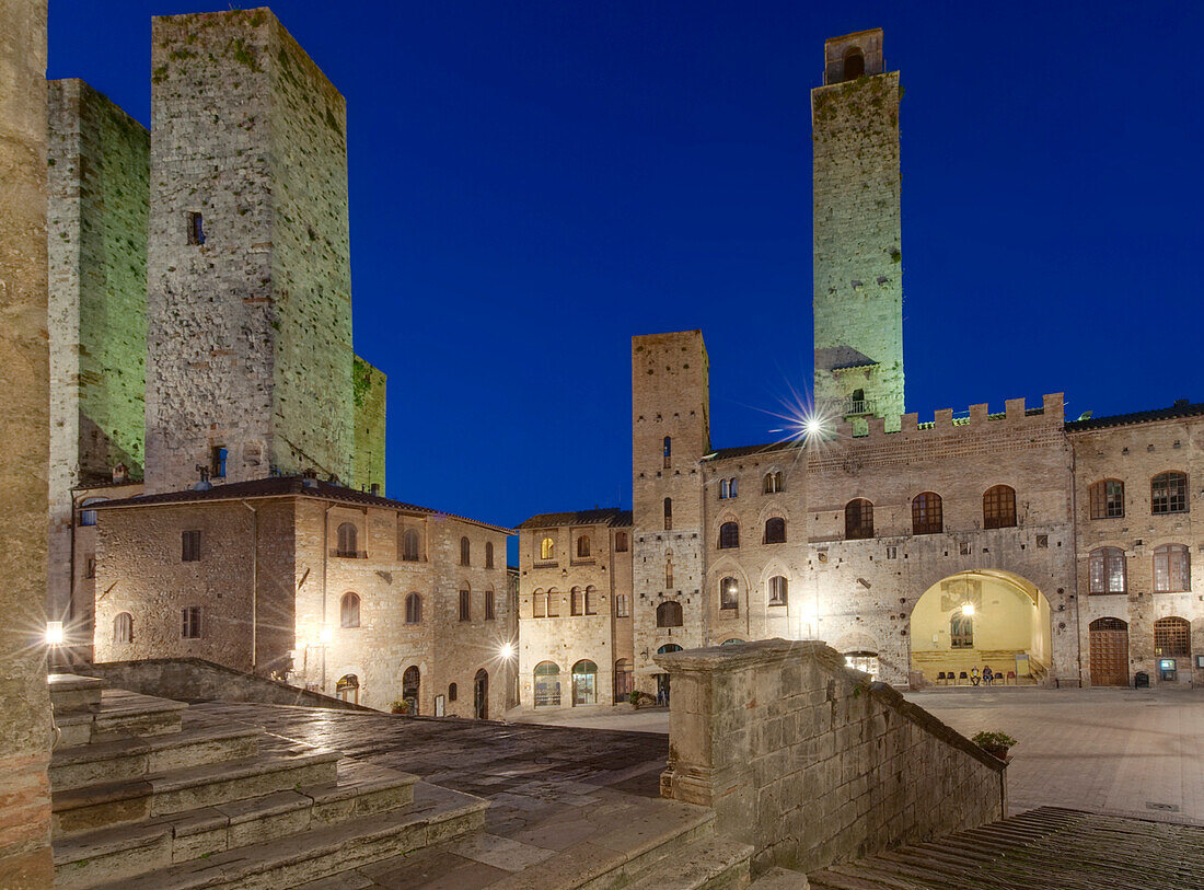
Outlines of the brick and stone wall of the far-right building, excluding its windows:
{"type": "MultiPolygon", "coordinates": [[[[1079,589],[1078,636],[1082,652],[1084,678],[1091,682],[1091,623],[1100,618],[1120,618],[1128,624],[1129,682],[1138,671],[1161,683],[1158,653],[1155,650],[1153,625],[1159,618],[1176,617],[1191,621],[1192,655],[1204,654],[1204,414],[1153,423],[1125,424],[1093,429],[1091,422],[1070,424],[1074,448],[1074,508],[1078,530],[1075,567],[1079,589]],[[1075,429],[1079,428],[1079,429],[1075,429]],[[1164,472],[1187,473],[1188,509],[1155,515],[1150,503],[1150,482],[1164,472]],[[1102,479],[1125,484],[1122,515],[1093,519],[1091,485],[1102,479]],[[1191,588],[1182,591],[1153,590],[1153,552],[1163,544],[1187,547],[1191,560],[1191,588]],[[1088,566],[1091,552],[1116,547],[1125,553],[1127,591],[1092,594],[1088,566]]],[[[1179,655],[1178,678],[1181,684],[1204,680],[1204,671],[1194,670],[1193,658],[1179,655]]]]}

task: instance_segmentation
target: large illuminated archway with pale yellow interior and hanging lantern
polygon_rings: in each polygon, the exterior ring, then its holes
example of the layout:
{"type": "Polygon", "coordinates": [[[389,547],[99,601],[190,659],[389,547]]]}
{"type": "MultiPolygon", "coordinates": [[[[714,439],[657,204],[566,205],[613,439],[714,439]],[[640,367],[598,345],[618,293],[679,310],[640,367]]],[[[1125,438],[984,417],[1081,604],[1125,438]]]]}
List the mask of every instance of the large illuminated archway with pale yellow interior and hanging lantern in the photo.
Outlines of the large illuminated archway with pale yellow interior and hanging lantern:
{"type": "Polygon", "coordinates": [[[942,673],[966,682],[987,667],[1004,682],[1032,683],[1050,665],[1049,600],[1032,582],[997,568],[938,580],[911,609],[908,633],[911,671],[928,683],[942,673]]]}

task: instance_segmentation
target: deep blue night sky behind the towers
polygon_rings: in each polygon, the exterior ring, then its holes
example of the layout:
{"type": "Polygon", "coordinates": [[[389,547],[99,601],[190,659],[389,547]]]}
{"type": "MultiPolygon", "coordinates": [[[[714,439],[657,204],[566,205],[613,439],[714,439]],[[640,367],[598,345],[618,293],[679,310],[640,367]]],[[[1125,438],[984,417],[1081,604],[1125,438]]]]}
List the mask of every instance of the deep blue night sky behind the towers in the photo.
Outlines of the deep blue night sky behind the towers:
{"type": "MultiPolygon", "coordinates": [[[[908,408],[1204,400],[1204,5],[987,6],[276,4],[347,96],[388,494],[630,506],[632,334],[701,328],[714,442],[774,438],[811,373],[808,90],[874,26],[907,89],[908,408]]],[[[150,16],[224,7],[51,0],[49,76],[149,124],[150,16]]]]}

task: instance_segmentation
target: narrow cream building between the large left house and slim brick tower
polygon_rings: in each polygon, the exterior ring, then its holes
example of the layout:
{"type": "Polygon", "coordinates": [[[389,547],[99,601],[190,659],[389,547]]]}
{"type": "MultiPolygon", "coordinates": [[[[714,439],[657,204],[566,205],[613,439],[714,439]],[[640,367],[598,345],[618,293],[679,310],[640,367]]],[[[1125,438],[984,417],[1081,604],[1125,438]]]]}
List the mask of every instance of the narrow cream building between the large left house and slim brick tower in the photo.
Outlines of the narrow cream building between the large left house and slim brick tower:
{"type": "Polygon", "coordinates": [[[635,688],[631,511],[542,513],[518,535],[519,703],[627,701],[635,688]]]}

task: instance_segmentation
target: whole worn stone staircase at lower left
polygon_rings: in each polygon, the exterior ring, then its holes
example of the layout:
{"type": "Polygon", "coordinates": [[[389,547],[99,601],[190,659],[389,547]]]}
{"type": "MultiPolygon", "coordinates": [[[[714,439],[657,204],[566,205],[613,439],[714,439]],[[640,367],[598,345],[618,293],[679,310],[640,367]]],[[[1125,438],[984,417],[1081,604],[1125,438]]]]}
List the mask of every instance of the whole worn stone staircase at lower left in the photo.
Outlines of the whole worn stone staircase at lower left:
{"type": "Polygon", "coordinates": [[[49,678],[55,886],[283,888],[478,831],[488,803],[181,702],[49,678]]]}

